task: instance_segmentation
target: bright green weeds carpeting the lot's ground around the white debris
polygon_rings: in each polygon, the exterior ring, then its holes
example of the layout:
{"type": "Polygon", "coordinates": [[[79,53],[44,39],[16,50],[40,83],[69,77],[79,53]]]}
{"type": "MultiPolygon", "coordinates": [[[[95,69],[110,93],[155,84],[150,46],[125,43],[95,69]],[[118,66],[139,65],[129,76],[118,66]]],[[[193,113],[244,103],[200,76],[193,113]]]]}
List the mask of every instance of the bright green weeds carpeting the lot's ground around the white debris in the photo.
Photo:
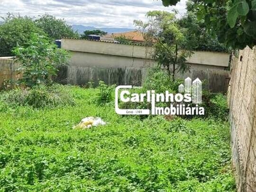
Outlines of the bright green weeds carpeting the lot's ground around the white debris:
{"type": "Polygon", "coordinates": [[[76,106],[2,109],[1,191],[235,191],[228,123],[119,116],[65,89],[76,106]],[[86,116],[108,124],[72,129],[86,116]]]}

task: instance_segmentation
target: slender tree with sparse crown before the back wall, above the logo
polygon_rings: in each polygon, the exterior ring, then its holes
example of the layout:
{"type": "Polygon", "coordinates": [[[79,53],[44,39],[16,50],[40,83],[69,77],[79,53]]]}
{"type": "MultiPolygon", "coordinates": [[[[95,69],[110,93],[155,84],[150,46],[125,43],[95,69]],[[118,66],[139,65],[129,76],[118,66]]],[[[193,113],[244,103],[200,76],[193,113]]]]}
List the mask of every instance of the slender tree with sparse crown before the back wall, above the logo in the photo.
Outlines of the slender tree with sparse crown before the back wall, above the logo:
{"type": "Polygon", "coordinates": [[[184,47],[183,29],[177,23],[175,13],[152,11],[146,17],[148,22],[134,20],[134,24],[142,31],[147,45],[154,46],[152,58],[168,71],[169,77],[172,73],[174,80],[176,72],[189,70],[186,60],[191,56],[191,51],[184,49],[187,47],[184,47]]]}

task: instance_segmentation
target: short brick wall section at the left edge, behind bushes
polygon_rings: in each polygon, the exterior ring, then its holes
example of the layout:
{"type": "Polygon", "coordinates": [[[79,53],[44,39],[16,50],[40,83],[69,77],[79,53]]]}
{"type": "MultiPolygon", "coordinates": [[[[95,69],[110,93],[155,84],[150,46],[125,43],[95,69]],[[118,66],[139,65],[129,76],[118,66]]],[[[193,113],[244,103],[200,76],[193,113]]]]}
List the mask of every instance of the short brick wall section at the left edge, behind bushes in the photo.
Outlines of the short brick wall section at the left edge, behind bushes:
{"type": "Polygon", "coordinates": [[[3,87],[5,80],[17,80],[20,74],[17,74],[18,64],[12,58],[0,58],[0,87],[3,87]]]}

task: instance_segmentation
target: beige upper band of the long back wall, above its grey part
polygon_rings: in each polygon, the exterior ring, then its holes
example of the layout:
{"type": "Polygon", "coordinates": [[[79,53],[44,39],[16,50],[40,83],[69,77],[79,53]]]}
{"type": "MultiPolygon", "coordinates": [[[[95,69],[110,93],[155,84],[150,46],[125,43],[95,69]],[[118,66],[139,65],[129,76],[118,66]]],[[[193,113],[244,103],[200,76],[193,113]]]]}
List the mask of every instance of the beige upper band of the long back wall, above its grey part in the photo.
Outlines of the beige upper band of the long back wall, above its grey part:
{"type": "MultiPolygon", "coordinates": [[[[149,58],[150,52],[154,51],[152,47],[139,45],[124,45],[68,38],[61,40],[61,48],[75,52],[90,52],[132,58],[149,58]]],[[[229,54],[225,52],[193,51],[187,63],[228,67],[229,54]]]]}

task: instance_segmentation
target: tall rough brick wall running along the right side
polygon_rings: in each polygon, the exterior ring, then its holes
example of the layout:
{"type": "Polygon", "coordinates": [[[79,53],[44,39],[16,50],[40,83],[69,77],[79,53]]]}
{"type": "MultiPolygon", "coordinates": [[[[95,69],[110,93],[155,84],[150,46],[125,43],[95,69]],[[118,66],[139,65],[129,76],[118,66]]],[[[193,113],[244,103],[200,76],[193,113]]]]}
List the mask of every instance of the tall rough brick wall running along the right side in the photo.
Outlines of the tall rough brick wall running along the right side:
{"type": "Polygon", "coordinates": [[[256,48],[232,58],[229,107],[238,191],[256,191],[256,48]]]}

